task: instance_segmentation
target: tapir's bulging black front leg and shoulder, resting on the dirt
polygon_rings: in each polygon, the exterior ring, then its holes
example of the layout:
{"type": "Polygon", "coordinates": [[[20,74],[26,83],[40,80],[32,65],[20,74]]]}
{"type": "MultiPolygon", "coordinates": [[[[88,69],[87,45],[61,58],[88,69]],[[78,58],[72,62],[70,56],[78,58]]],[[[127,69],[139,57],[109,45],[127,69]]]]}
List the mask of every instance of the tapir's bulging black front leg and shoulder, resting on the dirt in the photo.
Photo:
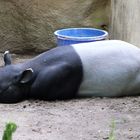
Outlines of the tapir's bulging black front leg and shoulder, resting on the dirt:
{"type": "Polygon", "coordinates": [[[76,95],[81,79],[82,73],[71,65],[52,65],[40,71],[30,96],[43,100],[70,99],[76,95]]]}

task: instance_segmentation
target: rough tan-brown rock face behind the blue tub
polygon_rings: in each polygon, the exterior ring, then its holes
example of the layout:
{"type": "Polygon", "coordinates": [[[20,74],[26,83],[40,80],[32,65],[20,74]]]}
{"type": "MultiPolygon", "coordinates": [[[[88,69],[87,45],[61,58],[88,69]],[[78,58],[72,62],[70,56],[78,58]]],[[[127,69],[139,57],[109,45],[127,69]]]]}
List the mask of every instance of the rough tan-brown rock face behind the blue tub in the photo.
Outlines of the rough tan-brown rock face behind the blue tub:
{"type": "Polygon", "coordinates": [[[1,0],[0,52],[39,53],[67,27],[107,28],[110,0],[1,0]]]}

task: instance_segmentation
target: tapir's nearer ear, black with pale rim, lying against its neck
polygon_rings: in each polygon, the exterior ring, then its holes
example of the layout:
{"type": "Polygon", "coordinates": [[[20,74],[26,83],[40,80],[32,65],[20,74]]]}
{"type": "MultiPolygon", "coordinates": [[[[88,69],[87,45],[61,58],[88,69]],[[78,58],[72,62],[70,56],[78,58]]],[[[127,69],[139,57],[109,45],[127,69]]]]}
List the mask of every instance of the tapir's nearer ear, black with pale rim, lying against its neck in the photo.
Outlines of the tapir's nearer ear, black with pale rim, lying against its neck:
{"type": "Polygon", "coordinates": [[[33,77],[33,69],[28,68],[22,72],[19,81],[21,84],[26,84],[32,80],[32,77],[33,77]]]}

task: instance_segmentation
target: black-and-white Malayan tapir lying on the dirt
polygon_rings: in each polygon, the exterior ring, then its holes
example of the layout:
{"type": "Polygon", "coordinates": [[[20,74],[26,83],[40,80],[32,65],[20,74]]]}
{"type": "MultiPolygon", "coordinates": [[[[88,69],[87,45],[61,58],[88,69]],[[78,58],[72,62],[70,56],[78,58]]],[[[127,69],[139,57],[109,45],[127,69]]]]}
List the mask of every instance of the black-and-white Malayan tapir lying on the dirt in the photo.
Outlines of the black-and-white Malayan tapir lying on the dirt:
{"type": "Polygon", "coordinates": [[[119,40],[56,47],[19,64],[4,54],[0,102],[140,95],[140,49],[119,40]]]}

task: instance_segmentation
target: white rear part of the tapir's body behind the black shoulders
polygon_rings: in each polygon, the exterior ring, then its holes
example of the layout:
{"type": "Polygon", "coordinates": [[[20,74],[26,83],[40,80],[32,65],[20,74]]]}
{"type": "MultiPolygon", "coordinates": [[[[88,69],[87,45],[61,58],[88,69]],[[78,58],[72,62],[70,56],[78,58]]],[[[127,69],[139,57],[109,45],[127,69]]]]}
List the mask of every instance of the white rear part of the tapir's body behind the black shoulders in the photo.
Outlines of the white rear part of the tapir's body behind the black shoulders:
{"type": "Polygon", "coordinates": [[[72,45],[83,65],[80,95],[123,96],[140,93],[140,49],[123,41],[72,45]]]}

